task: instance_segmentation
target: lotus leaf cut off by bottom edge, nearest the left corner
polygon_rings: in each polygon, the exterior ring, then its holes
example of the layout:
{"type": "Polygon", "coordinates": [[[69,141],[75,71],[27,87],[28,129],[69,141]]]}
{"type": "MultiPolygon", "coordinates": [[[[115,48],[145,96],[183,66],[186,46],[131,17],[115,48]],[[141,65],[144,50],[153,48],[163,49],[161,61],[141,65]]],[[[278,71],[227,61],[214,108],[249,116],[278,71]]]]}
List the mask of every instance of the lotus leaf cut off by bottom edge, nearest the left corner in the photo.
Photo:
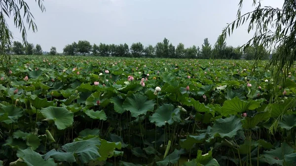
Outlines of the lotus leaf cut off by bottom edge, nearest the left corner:
{"type": "Polygon", "coordinates": [[[27,166],[57,166],[53,159],[44,160],[42,156],[31,148],[18,150],[17,157],[22,159],[27,166]]]}

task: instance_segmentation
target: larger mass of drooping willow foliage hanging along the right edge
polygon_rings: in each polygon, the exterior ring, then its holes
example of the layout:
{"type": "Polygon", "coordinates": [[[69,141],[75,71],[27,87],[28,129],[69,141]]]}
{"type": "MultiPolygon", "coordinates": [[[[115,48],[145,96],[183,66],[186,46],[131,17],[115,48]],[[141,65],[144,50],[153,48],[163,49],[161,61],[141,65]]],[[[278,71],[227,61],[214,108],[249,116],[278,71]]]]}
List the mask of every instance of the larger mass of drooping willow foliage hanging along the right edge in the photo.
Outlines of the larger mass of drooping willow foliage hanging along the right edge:
{"type": "MultiPolygon", "coordinates": [[[[248,24],[248,33],[251,31],[255,33],[241,48],[245,49],[248,46],[257,45],[268,49],[269,52],[274,50],[265,70],[269,69],[273,74],[274,91],[270,102],[278,102],[278,94],[283,91],[283,89],[278,88],[278,85],[285,86],[288,73],[295,65],[296,60],[296,0],[284,0],[282,8],[262,6],[262,0],[253,0],[255,9],[242,14],[244,1],[246,0],[239,1],[237,18],[223,29],[220,40],[214,47],[217,49],[235,29],[248,24]]],[[[260,60],[261,56],[257,55],[253,69],[256,68],[260,60]]],[[[296,102],[296,100],[293,99],[292,102],[296,102]]],[[[289,107],[289,104],[287,107],[289,107]]],[[[281,117],[271,126],[271,132],[277,128],[277,123],[281,117]]]]}

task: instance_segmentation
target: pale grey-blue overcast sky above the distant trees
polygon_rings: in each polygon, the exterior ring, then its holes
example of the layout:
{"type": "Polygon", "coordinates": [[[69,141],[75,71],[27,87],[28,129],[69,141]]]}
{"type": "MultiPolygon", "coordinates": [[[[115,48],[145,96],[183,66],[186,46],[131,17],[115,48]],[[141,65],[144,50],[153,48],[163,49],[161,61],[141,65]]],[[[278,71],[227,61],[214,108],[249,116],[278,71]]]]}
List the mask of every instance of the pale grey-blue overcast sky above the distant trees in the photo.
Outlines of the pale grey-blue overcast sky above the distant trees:
{"type": "MultiPolygon", "coordinates": [[[[155,45],[166,37],[177,46],[201,47],[204,38],[213,46],[222,29],[236,19],[239,0],[44,0],[41,12],[35,0],[26,0],[35,17],[38,31],[28,30],[28,41],[63,48],[78,40],[91,44],[141,42],[155,45]]],[[[252,11],[253,0],[244,0],[242,13],[252,11]]],[[[281,8],[284,0],[261,0],[262,6],[281,8]]],[[[7,18],[8,19],[8,18],[7,18]]],[[[13,17],[7,20],[15,37],[21,40],[13,17]]],[[[247,26],[235,30],[227,45],[242,45],[253,36],[247,26]]]]}

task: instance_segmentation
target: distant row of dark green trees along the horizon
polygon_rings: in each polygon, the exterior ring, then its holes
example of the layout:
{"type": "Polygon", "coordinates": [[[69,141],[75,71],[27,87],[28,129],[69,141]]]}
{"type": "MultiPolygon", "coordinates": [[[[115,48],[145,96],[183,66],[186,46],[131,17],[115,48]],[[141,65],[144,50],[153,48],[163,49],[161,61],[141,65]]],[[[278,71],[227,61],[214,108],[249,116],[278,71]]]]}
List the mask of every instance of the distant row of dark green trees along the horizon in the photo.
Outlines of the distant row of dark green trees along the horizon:
{"type": "MultiPolygon", "coordinates": [[[[219,41],[220,38],[217,39],[219,41]]],[[[147,58],[197,58],[197,59],[247,59],[252,60],[261,55],[263,60],[269,59],[269,53],[259,45],[249,46],[242,50],[239,46],[227,46],[225,41],[217,42],[216,49],[212,48],[208,38],[204,39],[201,46],[191,46],[185,48],[183,43],[175,47],[164,38],[162,42],[156,43],[155,46],[144,46],[141,42],[133,43],[130,47],[128,44],[90,44],[87,40],[79,40],[77,43],[68,44],[63,49],[63,54],[58,54],[56,47],[51,47],[49,55],[92,55],[102,57],[147,57],[147,58]]],[[[14,41],[10,51],[17,55],[42,55],[42,48],[39,44],[34,45],[27,43],[24,47],[19,41],[14,41]]]]}

